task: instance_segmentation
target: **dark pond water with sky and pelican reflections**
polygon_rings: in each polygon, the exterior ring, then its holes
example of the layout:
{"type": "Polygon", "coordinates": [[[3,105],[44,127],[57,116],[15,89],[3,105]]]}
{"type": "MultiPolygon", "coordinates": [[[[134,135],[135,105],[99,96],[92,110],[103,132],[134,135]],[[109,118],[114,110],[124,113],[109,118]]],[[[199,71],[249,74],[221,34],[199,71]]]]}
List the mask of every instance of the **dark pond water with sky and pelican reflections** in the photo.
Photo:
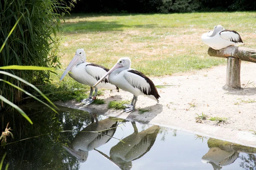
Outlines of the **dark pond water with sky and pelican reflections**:
{"type": "Polygon", "coordinates": [[[70,108],[60,107],[59,115],[38,108],[26,109],[34,125],[22,117],[4,119],[14,134],[8,142],[14,143],[0,150],[1,157],[7,153],[3,167],[9,163],[9,170],[256,170],[256,148],[103,115],[94,115],[98,122],[92,123],[89,113],[70,108]]]}

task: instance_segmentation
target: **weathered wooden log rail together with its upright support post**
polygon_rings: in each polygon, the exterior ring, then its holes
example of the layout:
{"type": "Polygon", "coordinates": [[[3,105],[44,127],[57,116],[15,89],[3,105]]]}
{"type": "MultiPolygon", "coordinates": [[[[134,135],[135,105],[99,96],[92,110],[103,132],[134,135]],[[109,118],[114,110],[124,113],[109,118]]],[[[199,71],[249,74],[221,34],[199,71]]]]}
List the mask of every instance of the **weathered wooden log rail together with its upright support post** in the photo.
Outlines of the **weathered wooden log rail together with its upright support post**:
{"type": "Polygon", "coordinates": [[[228,46],[220,50],[214,50],[209,47],[208,54],[212,57],[227,58],[227,88],[241,88],[241,60],[256,63],[256,50],[250,48],[228,46]]]}

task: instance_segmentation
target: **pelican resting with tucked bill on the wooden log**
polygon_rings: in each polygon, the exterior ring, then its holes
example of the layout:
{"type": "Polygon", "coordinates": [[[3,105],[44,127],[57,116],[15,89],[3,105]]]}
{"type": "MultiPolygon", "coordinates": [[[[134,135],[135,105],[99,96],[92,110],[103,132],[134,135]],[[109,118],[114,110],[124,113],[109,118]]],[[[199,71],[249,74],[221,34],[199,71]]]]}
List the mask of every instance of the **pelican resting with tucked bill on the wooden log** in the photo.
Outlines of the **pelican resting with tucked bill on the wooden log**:
{"type": "Polygon", "coordinates": [[[244,45],[238,32],[224,29],[221,25],[215,26],[213,31],[204,33],[201,39],[205,44],[215,50],[226,48],[230,45],[244,45]]]}

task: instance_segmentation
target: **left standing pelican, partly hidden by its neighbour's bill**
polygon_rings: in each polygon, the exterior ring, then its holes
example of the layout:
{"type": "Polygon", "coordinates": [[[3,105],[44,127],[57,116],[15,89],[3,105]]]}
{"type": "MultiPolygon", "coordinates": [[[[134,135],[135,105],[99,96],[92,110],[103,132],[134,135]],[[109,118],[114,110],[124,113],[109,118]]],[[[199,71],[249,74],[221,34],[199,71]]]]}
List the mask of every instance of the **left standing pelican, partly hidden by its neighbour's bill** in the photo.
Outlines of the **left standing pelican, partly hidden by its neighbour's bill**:
{"type": "Polygon", "coordinates": [[[119,89],[115,85],[111,85],[108,82],[108,77],[106,77],[104,80],[102,79],[99,85],[95,87],[95,94],[93,96],[93,85],[99,80],[100,77],[102,77],[108,71],[109,69],[103,67],[102,65],[86,62],[86,54],[84,52],[84,49],[78,49],[76,50],[75,57],[71,60],[66,70],[62,74],[60,81],[68,73],[70,77],[75,79],[77,82],[80,82],[84,85],[89,85],[90,96],[87,99],[81,100],[81,102],[85,105],[90,105],[93,100],[96,99],[98,88],[111,89],[119,92],[119,89]],[[68,73],[69,71],[71,73],[68,73]]]}

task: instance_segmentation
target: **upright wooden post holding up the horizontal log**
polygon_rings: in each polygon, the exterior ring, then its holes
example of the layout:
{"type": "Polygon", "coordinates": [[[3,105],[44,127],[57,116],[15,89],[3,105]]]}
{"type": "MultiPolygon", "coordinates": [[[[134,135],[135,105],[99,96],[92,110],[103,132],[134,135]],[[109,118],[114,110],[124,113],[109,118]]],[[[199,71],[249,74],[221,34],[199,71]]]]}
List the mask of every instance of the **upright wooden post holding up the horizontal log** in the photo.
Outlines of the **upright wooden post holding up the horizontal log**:
{"type": "Polygon", "coordinates": [[[241,88],[240,82],[241,59],[227,58],[226,86],[225,88],[241,88]]]}

